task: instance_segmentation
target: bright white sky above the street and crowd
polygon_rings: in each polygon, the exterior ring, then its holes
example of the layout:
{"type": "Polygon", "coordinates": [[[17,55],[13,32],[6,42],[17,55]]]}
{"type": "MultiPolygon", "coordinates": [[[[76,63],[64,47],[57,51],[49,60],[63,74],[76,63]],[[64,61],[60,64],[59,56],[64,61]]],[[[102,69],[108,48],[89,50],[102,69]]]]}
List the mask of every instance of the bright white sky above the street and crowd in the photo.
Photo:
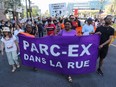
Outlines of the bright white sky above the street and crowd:
{"type": "Polygon", "coordinates": [[[68,3],[68,2],[87,2],[89,0],[31,0],[34,5],[39,6],[41,12],[44,13],[46,10],[49,10],[49,4],[53,3],[68,3]]]}

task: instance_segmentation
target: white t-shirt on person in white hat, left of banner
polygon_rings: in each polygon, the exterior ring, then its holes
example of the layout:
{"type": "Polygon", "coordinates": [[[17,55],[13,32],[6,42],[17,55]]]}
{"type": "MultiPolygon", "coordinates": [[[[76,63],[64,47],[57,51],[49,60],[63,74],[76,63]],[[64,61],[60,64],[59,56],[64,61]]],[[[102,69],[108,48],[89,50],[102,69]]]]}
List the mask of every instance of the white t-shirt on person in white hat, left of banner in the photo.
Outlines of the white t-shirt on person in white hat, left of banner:
{"type": "Polygon", "coordinates": [[[15,36],[12,36],[12,38],[10,38],[9,40],[6,40],[6,39],[4,39],[2,37],[1,41],[5,45],[5,51],[6,52],[12,52],[12,51],[16,51],[17,50],[16,44],[15,44],[15,40],[16,40],[15,36]]]}

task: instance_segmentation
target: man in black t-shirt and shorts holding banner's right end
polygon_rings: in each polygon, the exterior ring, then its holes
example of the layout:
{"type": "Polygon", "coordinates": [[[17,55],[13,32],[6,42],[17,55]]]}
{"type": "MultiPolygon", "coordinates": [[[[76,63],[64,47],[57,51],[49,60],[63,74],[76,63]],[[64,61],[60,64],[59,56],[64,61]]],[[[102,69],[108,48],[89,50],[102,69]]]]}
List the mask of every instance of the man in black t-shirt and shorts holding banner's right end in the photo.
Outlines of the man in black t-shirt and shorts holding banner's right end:
{"type": "Polygon", "coordinates": [[[114,36],[114,29],[110,26],[112,23],[112,16],[106,16],[105,25],[100,26],[96,29],[96,33],[101,35],[100,46],[99,46],[99,67],[97,69],[98,74],[103,76],[103,72],[101,67],[103,65],[103,61],[107,55],[109,43],[111,42],[114,36]]]}

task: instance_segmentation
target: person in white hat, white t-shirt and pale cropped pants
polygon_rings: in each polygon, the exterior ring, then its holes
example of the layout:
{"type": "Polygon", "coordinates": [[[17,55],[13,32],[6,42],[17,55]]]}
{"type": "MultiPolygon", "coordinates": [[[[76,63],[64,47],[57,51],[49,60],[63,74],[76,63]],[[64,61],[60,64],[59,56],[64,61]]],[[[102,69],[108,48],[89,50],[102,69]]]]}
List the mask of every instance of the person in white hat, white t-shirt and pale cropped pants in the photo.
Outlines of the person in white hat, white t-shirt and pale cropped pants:
{"type": "Polygon", "coordinates": [[[18,43],[16,42],[16,37],[11,34],[11,31],[8,27],[3,28],[3,37],[2,41],[2,55],[4,54],[3,50],[5,47],[5,52],[7,55],[8,63],[12,66],[12,72],[15,72],[16,66],[20,67],[18,62],[17,48],[19,50],[18,43]]]}

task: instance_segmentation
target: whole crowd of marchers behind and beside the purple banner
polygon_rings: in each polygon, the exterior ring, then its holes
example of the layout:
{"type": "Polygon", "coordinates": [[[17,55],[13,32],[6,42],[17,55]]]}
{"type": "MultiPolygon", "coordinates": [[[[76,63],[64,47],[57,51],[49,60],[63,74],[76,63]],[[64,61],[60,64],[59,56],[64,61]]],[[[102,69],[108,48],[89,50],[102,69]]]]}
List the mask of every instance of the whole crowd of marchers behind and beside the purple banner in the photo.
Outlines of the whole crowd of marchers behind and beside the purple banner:
{"type": "MultiPolygon", "coordinates": [[[[20,21],[4,20],[0,23],[0,37],[1,47],[0,51],[4,54],[4,48],[7,55],[8,63],[12,66],[12,72],[16,68],[20,68],[18,62],[18,54],[20,48],[18,46],[18,34],[24,34],[30,37],[44,37],[44,36],[83,36],[99,34],[101,35],[99,46],[99,67],[97,72],[103,76],[102,64],[107,55],[109,43],[114,35],[114,29],[110,26],[112,23],[112,16],[108,15],[104,20],[88,18],[84,25],[74,15],[69,18],[40,18],[27,19],[24,23],[20,21]]],[[[34,70],[37,70],[35,67],[34,70]]],[[[72,82],[71,76],[68,76],[68,81],[72,82]]]]}

